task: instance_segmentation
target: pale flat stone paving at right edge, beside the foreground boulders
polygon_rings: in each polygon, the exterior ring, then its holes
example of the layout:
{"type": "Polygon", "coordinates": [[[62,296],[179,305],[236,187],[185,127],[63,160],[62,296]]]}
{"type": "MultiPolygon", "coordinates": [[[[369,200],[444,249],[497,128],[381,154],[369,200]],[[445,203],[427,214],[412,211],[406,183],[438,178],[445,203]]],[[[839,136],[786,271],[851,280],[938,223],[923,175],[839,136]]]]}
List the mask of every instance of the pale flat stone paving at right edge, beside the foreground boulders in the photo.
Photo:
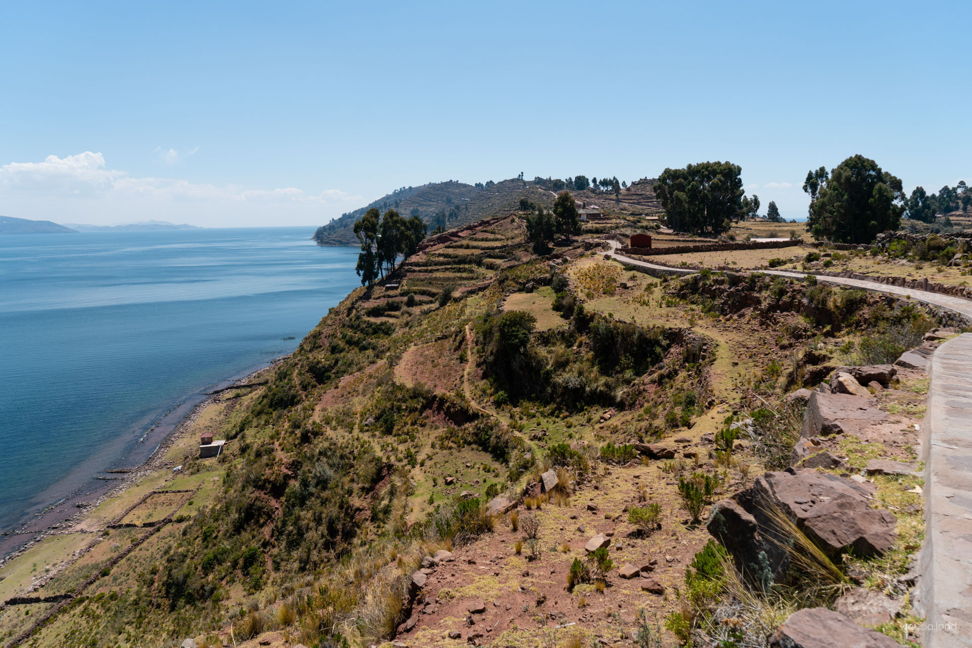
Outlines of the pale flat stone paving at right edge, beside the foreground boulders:
{"type": "Polygon", "coordinates": [[[972,333],[928,367],[922,429],[925,537],[920,597],[926,648],[972,646],[972,333]]]}

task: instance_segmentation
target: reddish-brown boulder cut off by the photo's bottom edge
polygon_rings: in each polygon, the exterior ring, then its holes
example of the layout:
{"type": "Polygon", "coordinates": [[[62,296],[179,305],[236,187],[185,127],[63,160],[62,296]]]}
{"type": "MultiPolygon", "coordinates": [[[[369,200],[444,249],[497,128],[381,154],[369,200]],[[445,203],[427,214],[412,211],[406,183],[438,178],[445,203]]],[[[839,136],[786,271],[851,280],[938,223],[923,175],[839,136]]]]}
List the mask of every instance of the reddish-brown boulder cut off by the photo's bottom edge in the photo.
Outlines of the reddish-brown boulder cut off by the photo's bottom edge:
{"type": "Polygon", "coordinates": [[[794,612],[770,636],[770,648],[899,648],[879,631],[858,626],[840,612],[808,607],[794,612]]]}

